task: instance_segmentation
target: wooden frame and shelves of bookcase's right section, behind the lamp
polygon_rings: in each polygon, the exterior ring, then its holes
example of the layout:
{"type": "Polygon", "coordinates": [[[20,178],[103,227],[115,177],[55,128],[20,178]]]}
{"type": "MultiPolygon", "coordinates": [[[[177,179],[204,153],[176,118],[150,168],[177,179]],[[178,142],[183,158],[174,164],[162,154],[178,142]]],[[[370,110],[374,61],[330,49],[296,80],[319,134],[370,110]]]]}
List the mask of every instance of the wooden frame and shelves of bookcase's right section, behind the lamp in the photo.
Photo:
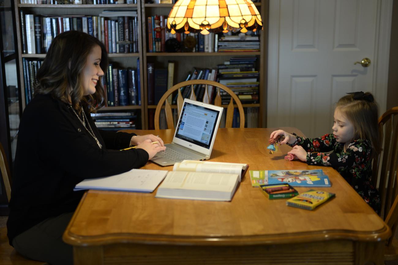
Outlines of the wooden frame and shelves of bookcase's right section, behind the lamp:
{"type": "MultiPolygon", "coordinates": [[[[268,10],[268,1],[263,0],[262,3],[255,3],[258,8],[261,18],[263,21],[266,21],[267,15],[266,12],[268,10]]],[[[266,63],[265,56],[267,52],[267,24],[265,24],[265,30],[260,33],[260,51],[259,52],[149,52],[148,51],[148,23],[147,18],[154,15],[164,15],[167,18],[173,4],[146,4],[145,0],[141,0],[141,24],[142,24],[142,57],[143,57],[143,67],[146,69],[147,63],[154,63],[155,69],[157,67],[162,69],[167,69],[168,61],[174,61],[174,83],[177,84],[179,82],[185,81],[185,77],[187,75],[187,71],[191,71],[193,67],[195,68],[214,68],[217,67],[217,64],[222,64],[224,61],[228,61],[231,57],[248,57],[253,56],[257,58],[256,69],[259,71],[259,103],[257,104],[242,104],[244,108],[258,108],[258,127],[262,127],[265,125],[265,113],[263,110],[265,109],[266,103],[266,89],[265,84],[266,80],[266,63]]],[[[147,71],[144,72],[144,90],[148,93],[148,76],[147,71]]],[[[146,98],[148,98],[148,94],[146,94],[146,98]]],[[[156,105],[149,105],[148,100],[144,102],[146,104],[146,123],[145,126],[148,128],[149,121],[148,118],[151,115],[148,114],[149,111],[154,111],[156,109],[156,105]]],[[[227,105],[223,105],[223,107],[227,107],[227,105]]],[[[172,105],[172,108],[176,108],[175,105],[172,105]]]]}

